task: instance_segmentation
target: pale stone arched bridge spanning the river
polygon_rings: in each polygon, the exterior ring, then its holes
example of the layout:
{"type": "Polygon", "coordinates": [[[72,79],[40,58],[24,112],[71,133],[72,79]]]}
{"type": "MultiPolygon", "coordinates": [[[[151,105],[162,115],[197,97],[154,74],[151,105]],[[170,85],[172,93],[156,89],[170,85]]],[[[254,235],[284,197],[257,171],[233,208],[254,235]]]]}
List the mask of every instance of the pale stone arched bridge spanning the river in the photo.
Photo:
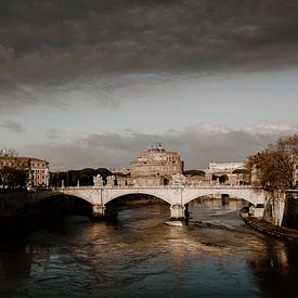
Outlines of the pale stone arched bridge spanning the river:
{"type": "Polygon", "coordinates": [[[111,210],[111,202],[117,197],[129,194],[152,195],[170,205],[171,219],[183,220],[185,218],[185,206],[193,199],[203,196],[222,197],[229,196],[239,199],[245,199],[256,205],[263,205],[265,200],[265,192],[252,186],[74,186],[74,187],[57,187],[53,190],[37,191],[33,195],[36,202],[47,197],[66,194],[85,199],[92,205],[93,217],[108,216],[111,210]]]}

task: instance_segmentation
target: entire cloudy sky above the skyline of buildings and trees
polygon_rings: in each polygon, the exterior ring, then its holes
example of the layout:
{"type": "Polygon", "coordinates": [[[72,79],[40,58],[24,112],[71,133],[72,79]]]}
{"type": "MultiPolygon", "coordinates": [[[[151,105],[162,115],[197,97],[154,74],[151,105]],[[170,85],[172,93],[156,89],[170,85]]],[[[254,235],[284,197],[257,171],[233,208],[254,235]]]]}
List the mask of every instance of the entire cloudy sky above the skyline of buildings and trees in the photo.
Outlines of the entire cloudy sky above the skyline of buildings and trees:
{"type": "Polygon", "coordinates": [[[295,0],[0,2],[1,147],[52,169],[128,166],[155,143],[186,168],[298,128],[295,0]]]}

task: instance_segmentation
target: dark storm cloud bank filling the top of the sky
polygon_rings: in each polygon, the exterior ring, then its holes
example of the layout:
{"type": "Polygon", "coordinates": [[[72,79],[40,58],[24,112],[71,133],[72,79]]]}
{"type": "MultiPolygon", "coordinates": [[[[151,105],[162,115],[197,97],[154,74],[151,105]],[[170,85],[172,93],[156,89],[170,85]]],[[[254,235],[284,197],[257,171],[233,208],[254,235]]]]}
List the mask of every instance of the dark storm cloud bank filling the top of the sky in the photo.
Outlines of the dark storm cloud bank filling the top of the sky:
{"type": "Polygon", "coordinates": [[[297,12],[290,0],[1,1],[1,101],[41,101],[20,85],[295,66],[297,12]]]}

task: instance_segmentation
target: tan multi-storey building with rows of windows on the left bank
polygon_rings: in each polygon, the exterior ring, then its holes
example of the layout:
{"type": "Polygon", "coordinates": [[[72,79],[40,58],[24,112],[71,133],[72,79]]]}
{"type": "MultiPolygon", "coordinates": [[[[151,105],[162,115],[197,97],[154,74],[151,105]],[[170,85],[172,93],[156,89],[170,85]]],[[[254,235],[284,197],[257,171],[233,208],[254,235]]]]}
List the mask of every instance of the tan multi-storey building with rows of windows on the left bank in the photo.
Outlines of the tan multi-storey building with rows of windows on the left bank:
{"type": "Polygon", "coordinates": [[[36,157],[0,155],[0,169],[11,167],[27,171],[27,185],[49,186],[49,163],[36,157]]]}

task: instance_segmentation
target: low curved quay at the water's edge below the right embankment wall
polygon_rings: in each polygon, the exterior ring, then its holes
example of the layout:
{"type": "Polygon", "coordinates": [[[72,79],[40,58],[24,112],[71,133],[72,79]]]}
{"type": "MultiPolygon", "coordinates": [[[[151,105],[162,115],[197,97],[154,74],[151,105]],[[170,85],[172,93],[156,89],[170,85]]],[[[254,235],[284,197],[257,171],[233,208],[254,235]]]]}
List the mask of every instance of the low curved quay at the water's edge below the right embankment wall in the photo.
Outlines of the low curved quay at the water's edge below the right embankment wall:
{"type": "Polygon", "coordinates": [[[263,234],[284,241],[298,242],[298,230],[274,225],[262,219],[249,216],[246,210],[241,210],[239,216],[247,225],[263,234]]]}

